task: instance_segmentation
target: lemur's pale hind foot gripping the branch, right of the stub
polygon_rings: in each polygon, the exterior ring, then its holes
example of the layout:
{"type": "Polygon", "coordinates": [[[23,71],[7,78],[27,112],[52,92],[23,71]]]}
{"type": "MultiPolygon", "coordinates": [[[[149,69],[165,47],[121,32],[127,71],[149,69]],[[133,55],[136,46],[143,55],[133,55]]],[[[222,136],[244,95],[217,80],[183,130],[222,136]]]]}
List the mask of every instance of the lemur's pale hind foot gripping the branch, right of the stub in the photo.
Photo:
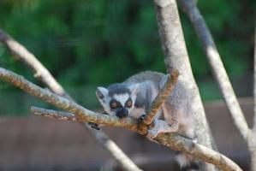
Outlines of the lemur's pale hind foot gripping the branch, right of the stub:
{"type": "Polygon", "coordinates": [[[173,127],[170,127],[170,125],[166,121],[156,120],[154,122],[154,127],[149,128],[147,130],[146,137],[152,140],[158,136],[158,133],[175,133],[175,132],[176,131],[173,129],[173,127]]]}

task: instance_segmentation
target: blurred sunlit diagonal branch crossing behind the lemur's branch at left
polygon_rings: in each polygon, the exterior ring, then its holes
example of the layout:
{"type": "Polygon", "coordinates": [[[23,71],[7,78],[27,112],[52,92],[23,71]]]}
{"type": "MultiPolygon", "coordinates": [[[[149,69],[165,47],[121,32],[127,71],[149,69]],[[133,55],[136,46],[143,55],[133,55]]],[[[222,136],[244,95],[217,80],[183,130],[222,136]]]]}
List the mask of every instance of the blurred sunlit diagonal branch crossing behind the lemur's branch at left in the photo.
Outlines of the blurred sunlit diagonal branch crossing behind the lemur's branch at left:
{"type": "MultiPolygon", "coordinates": [[[[34,76],[42,81],[51,91],[74,101],[74,99],[63,89],[62,85],[54,79],[48,69],[45,68],[45,66],[39,62],[31,52],[15,41],[14,38],[11,38],[8,33],[3,32],[2,29],[0,29],[0,41],[11,51],[16,59],[27,64],[27,67],[33,70],[34,76]]],[[[82,125],[92,134],[92,137],[94,137],[99,144],[102,144],[106,150],[110,151],[110,154],[114,156],[124,170],[140,171],[140,168],[138,168],[103,131],[96,131],[86,123],[82,123],[82,125]]]]}

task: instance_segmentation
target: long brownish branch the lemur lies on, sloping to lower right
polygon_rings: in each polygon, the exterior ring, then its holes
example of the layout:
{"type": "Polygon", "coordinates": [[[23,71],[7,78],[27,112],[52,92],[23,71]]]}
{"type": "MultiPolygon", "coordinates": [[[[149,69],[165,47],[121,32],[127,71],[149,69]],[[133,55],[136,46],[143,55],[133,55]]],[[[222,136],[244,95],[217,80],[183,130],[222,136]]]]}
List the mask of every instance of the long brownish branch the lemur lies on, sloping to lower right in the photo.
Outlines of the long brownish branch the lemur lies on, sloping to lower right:
{"type": "MultiPolygon", "coordinates": [[[[69,102],[68,99],[64,97],[60,97],[50,91],[45,91],[39,86],[25,80],[23,77],[4,68],[0,68],[0,79],[15,85],[23,91],[27,91],[27,93],[38,97],[47,103],[51,103],[60,109],[73,113],[78,121],[88,121],[106,126],[126,127],[129,130],[137,133],[146,133],[146,127],[145,129],[138,129],[137,121],[134,121],[134,119],[119,119],[116,116],[102,115],[92,112],[91,110],[81,107],[79,104],[69,102]]],[[[232,162],[226,156],[223,156],[214,150],[208,149],[203,145],[195,144],[193,141],[182,138],[179,135],[159,133],[155,140],[158,141],[159,144],[164,144],[173,150],[182,150],[188,154],[198,157],[205,162],[211,162],[223,170],[241,171],[241,168],[239,168],[235,162],[232,162]]]]}

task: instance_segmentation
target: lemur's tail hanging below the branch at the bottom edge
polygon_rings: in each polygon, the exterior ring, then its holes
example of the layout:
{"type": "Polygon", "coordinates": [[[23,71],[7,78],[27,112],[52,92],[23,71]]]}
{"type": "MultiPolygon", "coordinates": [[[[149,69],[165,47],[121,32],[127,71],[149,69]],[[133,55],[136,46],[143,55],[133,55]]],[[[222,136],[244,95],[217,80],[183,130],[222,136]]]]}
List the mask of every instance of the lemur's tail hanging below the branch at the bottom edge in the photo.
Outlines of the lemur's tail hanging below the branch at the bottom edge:
{"type": "Polygon", "coordinates": [[[179,153],[176,155],[176,161],[179,163],[182,171],[199,171],[201,170],[201,162],[193,156],[179,153]]]}

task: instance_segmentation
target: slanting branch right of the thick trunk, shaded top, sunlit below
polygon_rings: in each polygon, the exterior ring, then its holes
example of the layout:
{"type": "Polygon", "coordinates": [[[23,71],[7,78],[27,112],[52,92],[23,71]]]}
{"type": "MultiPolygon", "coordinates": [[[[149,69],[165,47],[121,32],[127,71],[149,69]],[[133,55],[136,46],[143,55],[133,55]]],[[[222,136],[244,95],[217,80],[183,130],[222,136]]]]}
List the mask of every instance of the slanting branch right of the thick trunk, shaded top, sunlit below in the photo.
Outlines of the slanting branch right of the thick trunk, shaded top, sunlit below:
{"type": "Polygon", "coordinates": [[[217,52],[217,47],[211,37],[211,32],[206,26],[205,20],[193,0],[179,0],[179,2],[182,5],[182,9],[188,15],[189,20],[193,23],[193,27],[203,44],[212,72],[217,79],[217,83],[222,91],[235,126],[238,128],[243,139],[247,141],[247,134],[249,131],[247,121],[245,120],[241,107],[235,97],[235,92],[229,81],[228,74],[223,67],[223,62],[217,52]]]}

